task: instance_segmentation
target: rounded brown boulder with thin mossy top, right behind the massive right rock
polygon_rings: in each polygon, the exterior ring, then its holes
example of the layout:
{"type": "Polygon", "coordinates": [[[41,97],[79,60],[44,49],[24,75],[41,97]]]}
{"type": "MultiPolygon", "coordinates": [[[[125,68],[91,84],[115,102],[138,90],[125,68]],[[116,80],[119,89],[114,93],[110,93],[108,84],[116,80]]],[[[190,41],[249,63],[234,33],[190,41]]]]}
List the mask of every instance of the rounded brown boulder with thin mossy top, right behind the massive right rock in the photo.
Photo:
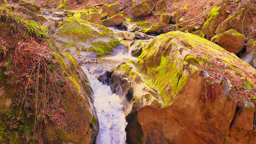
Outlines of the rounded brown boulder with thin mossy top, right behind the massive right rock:
{"type": "Polygon", "coordinates": [[[238,33],[234,29],[230,29],[219,35],[217,44],[229,52],[239,54],[244,48],[245,41],[246,37],[244,35],[238,33]]]}

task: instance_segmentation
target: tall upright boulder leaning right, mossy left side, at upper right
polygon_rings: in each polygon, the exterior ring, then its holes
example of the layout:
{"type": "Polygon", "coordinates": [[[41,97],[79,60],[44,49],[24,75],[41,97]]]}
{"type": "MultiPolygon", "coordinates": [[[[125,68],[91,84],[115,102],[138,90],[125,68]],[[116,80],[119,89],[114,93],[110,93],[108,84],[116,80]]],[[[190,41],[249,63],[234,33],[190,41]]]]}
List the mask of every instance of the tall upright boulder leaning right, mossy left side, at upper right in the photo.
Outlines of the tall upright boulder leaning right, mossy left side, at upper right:
{"type": "Polygon", "coordinates": [[[215,31],[219,24],[223,22],[228,17],[228,13],[224,11],[224,9],[220,6],[215,6],[211,9],[207,17],[207,21],[203,26],[202,33],[207,37],[213,37],[215,35],[215,31]]]}

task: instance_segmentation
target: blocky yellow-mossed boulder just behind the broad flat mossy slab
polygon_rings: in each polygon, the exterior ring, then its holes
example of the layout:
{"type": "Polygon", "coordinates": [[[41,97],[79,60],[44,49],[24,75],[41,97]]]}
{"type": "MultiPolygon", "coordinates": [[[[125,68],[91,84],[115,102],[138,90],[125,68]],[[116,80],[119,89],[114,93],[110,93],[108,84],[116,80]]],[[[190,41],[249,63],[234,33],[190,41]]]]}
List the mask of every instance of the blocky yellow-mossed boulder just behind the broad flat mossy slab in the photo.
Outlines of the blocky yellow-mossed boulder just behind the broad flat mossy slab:
{"type": "Polygon", "coordinates": [[[98,12],[91,12],[89,10],[81,10],[74,13],[73,17],[83,19],[93,24],[100,24],[101,14],[98,12]]]}

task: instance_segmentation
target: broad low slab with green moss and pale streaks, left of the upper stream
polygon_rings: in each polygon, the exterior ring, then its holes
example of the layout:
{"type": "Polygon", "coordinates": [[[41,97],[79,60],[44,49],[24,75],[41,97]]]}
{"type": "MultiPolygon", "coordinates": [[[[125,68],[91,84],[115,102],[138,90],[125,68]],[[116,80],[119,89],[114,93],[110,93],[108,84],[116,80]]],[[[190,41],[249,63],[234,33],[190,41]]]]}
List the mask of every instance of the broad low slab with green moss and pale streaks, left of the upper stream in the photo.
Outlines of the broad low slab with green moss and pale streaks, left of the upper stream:
{"type": "Polygon", "coordinates": [[[111,29],[74,17],[66,18],[54,37],[61,48],[91,56],[107,55],[120,44],[111,29]]]}

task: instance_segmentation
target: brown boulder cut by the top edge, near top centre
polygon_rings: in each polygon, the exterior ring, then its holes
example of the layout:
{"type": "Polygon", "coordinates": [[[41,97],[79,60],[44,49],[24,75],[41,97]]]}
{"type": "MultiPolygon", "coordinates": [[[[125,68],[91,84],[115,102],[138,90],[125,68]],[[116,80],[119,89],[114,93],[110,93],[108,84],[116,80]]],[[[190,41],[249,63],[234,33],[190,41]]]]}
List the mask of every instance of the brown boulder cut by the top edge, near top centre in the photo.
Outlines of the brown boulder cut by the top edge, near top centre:
{"type": "Polygon", "coordinates": [[[140,2],[133,3],[132,11],[135,18],[141,18],[151,13],[156,0],[142,0],[140,2]]]}

